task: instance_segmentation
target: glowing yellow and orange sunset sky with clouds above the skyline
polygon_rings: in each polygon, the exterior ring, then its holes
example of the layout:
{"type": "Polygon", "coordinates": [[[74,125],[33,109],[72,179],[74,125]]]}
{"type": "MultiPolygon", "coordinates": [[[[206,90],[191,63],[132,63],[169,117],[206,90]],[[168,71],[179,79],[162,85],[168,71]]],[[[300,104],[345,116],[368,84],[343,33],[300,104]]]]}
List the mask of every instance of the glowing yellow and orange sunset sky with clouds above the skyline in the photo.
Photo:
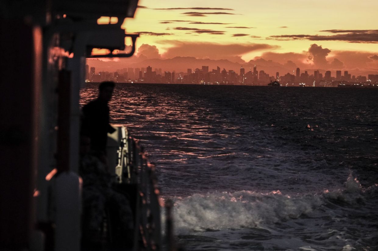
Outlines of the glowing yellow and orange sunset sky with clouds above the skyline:
{"type": "Polygon", "coordinates": [[[263,58],[308,69],[378,71],[376,0],[139,0],[138,5],[122,28],[140,34],[135,55],[140,59],[189,56],[243,64],[263,58]]]}

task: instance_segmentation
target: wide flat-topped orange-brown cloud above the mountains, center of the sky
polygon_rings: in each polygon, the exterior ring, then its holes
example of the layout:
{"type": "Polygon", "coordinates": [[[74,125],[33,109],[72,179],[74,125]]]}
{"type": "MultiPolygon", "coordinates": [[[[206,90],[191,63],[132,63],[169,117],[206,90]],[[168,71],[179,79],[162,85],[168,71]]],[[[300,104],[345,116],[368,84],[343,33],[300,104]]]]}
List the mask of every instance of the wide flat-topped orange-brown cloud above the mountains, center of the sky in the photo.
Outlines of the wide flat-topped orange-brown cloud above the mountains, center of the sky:
{"type": "Polygon", "coordinates": [[[187,42],[178,40],[163,40],[161,44],[169,45],[166,53],[162,56],[164,58],[174,57],[195,57],[195,58],[210,58],[214,60],[227,59],[232,62],[243,63],[241,55],[252,51],[264,51],[277,49],[279,46],[272,46],[269,44],[218,44],[209,42],[187,42]],[[193,49],[195,48],[195,49],[193,49]]]}

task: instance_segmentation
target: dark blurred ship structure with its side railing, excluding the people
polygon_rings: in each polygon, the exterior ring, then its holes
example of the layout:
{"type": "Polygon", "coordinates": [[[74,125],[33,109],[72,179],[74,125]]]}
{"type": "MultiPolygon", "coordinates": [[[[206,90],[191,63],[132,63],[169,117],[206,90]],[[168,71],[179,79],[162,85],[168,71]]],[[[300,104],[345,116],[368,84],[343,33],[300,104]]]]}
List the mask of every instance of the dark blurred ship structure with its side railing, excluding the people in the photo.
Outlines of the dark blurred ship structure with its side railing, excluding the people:
{"type": "MultiPolygon", "coordinates": [[[[79,98],[85,58],[131,57],[138,34],[125,34],[121,25],[137,6],[138,0],[2,1],[0,70],[8,84],[0,99],[0,250],[82,250],[79,98]],[[125,37],[131,51],[113,54],[125,49],[125,37]],[[94,48],[110,54],[92,55],[94,48]]],[[[109,166],[114,185],[129,194],[134,216],[127,238],[132,243],[122,250],[163,250],[164,202],[155,167],[124,128],[117,132],[109,166]]],[[[96,250],[113,245],[114,221],[104,215],[107,245],[100,238],[96,250]]],[[[167,242],[170,249],[172,239],[167,242]]]]}

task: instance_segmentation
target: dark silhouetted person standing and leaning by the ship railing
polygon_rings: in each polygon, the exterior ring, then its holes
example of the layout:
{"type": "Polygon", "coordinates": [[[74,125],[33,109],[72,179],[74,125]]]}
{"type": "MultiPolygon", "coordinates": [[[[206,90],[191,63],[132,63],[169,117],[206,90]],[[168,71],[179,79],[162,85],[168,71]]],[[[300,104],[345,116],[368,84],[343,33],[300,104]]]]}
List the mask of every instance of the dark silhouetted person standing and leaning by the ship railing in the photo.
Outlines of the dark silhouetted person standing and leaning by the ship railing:
{"type": "Polygon", "coordinates": [[[98,98],[86,104],[83,111],[81,134],[90,138],[91,150],[100,155],[106,153],[107,133],[115,132],[109,124],[108,102],[112,98],[115,84],[102,82],[98,98]]]}

